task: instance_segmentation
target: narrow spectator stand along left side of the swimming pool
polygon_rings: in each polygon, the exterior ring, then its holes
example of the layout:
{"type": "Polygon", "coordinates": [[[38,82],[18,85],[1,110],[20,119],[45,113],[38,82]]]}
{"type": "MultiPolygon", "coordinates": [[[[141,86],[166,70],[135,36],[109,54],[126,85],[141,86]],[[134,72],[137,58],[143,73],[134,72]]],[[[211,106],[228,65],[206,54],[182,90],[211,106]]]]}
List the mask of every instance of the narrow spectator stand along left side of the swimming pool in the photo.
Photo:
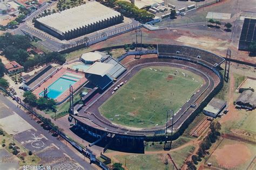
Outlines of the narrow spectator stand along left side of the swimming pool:
{"type": "Polygon", "coordinates": [[[53,74],[57,73],[58,69],[49,65],[41,69],[41,71],[33,76],[30,80],[22,84],[21,88],[25,90],[35,90],[43,82],[48,80],[53,74]]]}

